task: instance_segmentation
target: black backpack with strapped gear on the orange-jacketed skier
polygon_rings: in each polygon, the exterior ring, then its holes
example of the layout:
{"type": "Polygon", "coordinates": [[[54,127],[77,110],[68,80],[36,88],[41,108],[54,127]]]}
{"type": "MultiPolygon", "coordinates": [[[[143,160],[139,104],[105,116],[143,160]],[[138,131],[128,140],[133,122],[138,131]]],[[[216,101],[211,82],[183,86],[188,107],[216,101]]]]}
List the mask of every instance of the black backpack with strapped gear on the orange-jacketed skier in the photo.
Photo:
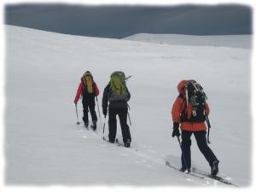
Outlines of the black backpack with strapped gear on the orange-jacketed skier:
{"type": "Polygon", "coordinates": [[[207,95],[201,84],[198,84],[195,80],[188,80],[181,93],[185,99],[181,121],[204,122],[206,120],[207,95]]]}

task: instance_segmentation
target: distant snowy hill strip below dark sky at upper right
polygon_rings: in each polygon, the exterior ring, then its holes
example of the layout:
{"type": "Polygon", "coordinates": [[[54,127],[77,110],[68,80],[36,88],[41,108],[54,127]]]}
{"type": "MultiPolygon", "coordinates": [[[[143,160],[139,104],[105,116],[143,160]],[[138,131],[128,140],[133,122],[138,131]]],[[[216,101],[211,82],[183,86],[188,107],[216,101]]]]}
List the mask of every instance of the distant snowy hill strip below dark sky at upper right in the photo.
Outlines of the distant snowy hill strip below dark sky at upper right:
{"type": "Polygon", "coordinates": [[[158,44],[216,46],[251,49],[251,35],[215,35],[215,36],[191,36],[178,34],[148,34],[139,33],[124,38],[127,40],[143,41],[158,44]]]}

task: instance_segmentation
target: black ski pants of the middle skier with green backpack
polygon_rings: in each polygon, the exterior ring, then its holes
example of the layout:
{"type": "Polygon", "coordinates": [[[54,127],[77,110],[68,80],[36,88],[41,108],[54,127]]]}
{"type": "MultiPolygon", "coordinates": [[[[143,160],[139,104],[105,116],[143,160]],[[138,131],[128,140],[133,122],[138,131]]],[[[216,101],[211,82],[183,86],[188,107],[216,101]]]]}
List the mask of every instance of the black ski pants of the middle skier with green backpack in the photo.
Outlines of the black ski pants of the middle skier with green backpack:
{"type": "Polygon", "coordinates": [[[129,125],[127,125],[127,108],[108,108],[108,140],[110,143],[114,143],[116,137],[117,120],[116,115],[119,116],[119,122],[121,125],[123,142],[126,143],[128,139],[131,142],[131,133],[129,125]]]}

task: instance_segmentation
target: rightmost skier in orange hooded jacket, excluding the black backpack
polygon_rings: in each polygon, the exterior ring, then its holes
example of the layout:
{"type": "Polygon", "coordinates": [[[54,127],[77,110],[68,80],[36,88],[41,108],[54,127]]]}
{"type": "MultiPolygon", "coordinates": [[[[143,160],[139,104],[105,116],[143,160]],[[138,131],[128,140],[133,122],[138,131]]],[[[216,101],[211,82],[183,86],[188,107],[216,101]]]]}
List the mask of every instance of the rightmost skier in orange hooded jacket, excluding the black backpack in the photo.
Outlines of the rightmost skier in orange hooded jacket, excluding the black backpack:
{"type": "MultiPolygon", "coordinates": [[[[190,137],[192,134],[195,136],[196,143],[198,145],[198,148],[201,150],[201,153],[205,156],[207,159],[210,167],[211,167],[211,173],[212,175],[218,174],[218,159],[213,154],[212,149],[209,148],[207,145],[207,126],[205,125],[204,120],[196,121],[196,120],[189,120],[188,118],[183,118],[184,108],[186,106],[186,93],[184,92],[184,88],[188,85],[188,80],[182,80],[179,84],[177,84],[177,90],[179,95],[177,96],[176,101],[174,102],[172,106],[172,121],[173,121],[173,131],[172,131],[172,137],[179,137],[180,131],[179,131],[179,125],[182,131],[181,137],[182,137],[182,168],[180,171],[190,172],[191,168],[191,154],[190,154],[190,145],[191,145],[191,139],[190,137]]],[[[205,115],[207,116],[210,113],[210,108],[205,103],[205,115]]]]}

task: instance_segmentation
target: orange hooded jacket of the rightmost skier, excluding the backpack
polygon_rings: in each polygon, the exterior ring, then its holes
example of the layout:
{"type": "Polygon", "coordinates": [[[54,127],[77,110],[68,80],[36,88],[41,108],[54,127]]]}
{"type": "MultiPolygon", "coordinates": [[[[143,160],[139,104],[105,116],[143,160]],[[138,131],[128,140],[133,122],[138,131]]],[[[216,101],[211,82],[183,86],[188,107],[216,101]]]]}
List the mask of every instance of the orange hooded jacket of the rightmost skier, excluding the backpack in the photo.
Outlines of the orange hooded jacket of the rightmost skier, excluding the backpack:
{"type": "MultiPolygon", "coordinates": [[[[186,84],[186,81],[183,80],[177,85],[177,90],[179,93],[181,93],[183,84],[186,84]]],[[[184,99],[180,96],[177,97],[176,101],[174,102],[172,106],[172,121],[173,122],[180,122],[180,115],[183,110],[184,106],[184,99]]],[[[210,113],[210,108],[206,102],[206,114],[208,115],[210,113]]],[[[207,126],[204,122],[182,122],[180,128],[184,131],[205,131],[207,129],[207,126]]]]}

